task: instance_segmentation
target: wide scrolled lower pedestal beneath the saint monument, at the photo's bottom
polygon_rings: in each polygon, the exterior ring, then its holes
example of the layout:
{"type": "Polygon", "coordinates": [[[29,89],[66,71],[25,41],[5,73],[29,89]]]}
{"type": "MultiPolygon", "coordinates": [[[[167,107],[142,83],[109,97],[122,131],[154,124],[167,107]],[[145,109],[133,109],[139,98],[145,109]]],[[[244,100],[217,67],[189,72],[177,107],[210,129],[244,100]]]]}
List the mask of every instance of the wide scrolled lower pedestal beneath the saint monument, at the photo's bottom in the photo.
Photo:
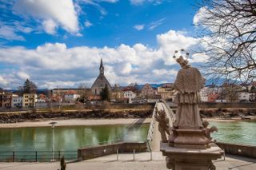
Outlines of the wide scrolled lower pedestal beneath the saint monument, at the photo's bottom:
{"type": "Polygon", "coordinates": [[[175,148],[168,143],[160,144],[166,156],[166,167],[172,170],[215,170],[212,160],[222,157],[223,151],[216,144],[210,148],[175,148]]]}

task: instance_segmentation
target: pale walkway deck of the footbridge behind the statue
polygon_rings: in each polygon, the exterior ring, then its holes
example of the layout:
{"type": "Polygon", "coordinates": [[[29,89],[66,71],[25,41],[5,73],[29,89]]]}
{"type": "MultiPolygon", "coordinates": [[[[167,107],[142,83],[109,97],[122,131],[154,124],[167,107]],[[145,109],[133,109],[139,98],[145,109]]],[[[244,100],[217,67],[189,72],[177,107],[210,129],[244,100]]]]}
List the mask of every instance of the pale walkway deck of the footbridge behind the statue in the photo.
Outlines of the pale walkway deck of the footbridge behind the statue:
{"type": "MultiPolygon", "coordinates": [[[[169,121],[172,120],[172,118],[170,116],[172,114],[172,113],[170,113],[171,110],[167,109],[167,107],[169,107],[169,106],[166,106],[163,102],[158,102],[156,106],[157,106],[158,110],[162,110],[162,109],[165,110],[166,111],[166,116],[169,118],[169,121]]],[[[151,150],[153,152],[160,151],[161,134],[158,131],[158,121],[154,121],[154,132],[153,132],[152,139],[153,140],[151,141],[151,150]]]]}

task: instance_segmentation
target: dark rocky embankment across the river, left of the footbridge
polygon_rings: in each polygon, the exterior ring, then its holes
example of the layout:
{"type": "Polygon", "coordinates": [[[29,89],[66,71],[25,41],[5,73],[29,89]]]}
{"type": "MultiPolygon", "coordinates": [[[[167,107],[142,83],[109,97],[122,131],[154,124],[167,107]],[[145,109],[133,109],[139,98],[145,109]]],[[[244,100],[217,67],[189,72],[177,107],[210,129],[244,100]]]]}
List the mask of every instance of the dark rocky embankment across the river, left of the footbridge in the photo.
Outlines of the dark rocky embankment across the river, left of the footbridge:
{"type": "Polygon", "coordinates": [[[36,113],[0,113],[0,124],[18,123],[24,121],[45,121],[49,119],[74,119],[74,118],[147,118],[151,117],[153,109],[135,110],[82,110],[65,112],[36,112],[36,113]]]}

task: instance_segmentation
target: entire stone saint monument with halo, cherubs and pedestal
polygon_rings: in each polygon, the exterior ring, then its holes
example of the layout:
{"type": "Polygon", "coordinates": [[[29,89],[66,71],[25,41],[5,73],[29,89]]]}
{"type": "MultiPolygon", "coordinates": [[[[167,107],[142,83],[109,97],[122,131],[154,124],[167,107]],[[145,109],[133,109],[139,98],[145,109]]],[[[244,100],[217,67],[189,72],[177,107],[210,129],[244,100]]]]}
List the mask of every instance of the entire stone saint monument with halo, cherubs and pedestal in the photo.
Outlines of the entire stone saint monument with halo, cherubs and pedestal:
{"type": "MultiPolygon", "coordinates": [[[[184,52],[184,49],[181,49],[181,52],[184,52]]],[[[160,151],[166,156],[166,167],[169,169],[216,169],[212,160],[221,158],[223,151],[212,143],[210,133],[218,129],[215,126],[207,128],[209,123],[202,122],[198,108],[199,92],[204,87],[205,79],[197,68],[189,65],[187,60],[189,53],[186,55],[186,58],[181,55],[176,59],[182,67],[174,81],[174,89],[178,91],[175,98],[178,107],[173,128],[170,128],[168,144],[161,142],[160,151]]],[[[165,116],[161,117],[161,114],[165,113],[161,111],[157,113],[159,113],[158,120],[162,120],[159,121],[159,131],[163,140],[166,138],[165,129],[167,129],[164,125],[168,123],[165,116]],[[160,128],[160,125],[164,127],[160,128]]]]}

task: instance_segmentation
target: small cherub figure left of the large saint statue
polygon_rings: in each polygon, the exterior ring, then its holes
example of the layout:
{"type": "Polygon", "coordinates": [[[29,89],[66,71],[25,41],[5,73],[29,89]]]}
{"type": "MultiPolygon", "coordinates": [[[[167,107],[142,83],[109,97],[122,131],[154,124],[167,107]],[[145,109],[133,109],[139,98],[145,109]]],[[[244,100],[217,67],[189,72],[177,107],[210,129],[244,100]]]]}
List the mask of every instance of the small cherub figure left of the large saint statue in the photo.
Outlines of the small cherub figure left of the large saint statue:
{"type": "Polygon", "coordinates": [[[166,133],[170,135],[170,126],[169,126],[169,119],[166,117],[166,112],[164,110],[158,111],[156,109],[156,113],[154,118],[158,121],[158,130],[161,133],[162,142],[168,142],[166,133]]]}

